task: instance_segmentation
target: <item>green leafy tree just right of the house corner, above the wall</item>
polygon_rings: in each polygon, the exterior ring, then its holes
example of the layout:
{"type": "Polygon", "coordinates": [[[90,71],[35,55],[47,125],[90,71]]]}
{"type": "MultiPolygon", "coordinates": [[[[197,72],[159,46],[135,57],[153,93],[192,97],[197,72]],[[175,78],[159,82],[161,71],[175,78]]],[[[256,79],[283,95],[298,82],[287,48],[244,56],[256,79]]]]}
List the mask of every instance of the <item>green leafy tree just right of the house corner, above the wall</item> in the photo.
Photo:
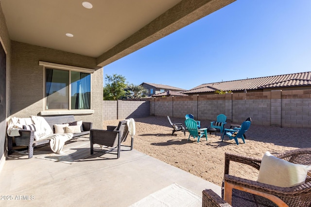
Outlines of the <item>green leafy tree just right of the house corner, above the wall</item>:
{"type": "Polygon", "coordinates": [[[118,100],[125,96],[125,77],[117,74],[106,75],[104,86],[104,100],[118,100]]]}

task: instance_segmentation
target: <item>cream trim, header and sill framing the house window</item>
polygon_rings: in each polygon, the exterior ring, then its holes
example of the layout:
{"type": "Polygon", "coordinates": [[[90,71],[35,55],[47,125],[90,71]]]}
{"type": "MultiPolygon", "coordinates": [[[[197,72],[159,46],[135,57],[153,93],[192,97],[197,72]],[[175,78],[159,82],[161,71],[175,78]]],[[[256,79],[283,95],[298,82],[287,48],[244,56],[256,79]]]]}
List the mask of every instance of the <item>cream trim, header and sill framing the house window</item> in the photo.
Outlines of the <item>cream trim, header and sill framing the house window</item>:
{"type": "MultiPolygon", "coordinates": [[[[46,97],[45,97],[45,69],[51,68],[51,69],[62,69],[62,70],[69,70],[69,79],[70,79],[70,71],[77,71],[77,72],[86,72],[86,73],[94,73],[95,70],[91,68],[84,68],[84,67],[77,67],[77,66],[72,66],[72,65],[66,65],[66,64],[56,64],[56,63],[49,63],[49,62],[44,62],[44,61],[39,61],[39,65],[43,66],[43,97],[44,97],[44,105],[43,109],[44,111],[40,111],[40,115],[65,115],[65,114],[93,114],[94,110],[92,109],[72,109],[72,110],[46,110],[46,97]]],[[[91,77],[91,92],[92,92],[92,77],[91,77]]],[[[69,87],[69,95],[70,95],[70,87],[69,87]]],[[[92,95],[91,95],[91,103],[92,103],[92,95]]],[[[70,98],[69,98],[69,105],[70,105],[70,98]]]]}

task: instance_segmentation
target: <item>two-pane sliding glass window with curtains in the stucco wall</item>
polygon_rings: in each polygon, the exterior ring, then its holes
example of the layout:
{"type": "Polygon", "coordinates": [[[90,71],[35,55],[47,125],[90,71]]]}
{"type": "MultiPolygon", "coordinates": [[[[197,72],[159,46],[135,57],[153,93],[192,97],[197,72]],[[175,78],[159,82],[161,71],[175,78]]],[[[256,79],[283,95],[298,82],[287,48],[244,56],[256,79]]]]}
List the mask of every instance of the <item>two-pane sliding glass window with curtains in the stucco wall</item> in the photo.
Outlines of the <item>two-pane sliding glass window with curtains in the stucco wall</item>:
{"type": "Polygon", "coordinates": [[[90,109],[91,75],[46,68],[46,109],[90,109]],[[69,98],[70,91],[70,98],[69,98]]]}

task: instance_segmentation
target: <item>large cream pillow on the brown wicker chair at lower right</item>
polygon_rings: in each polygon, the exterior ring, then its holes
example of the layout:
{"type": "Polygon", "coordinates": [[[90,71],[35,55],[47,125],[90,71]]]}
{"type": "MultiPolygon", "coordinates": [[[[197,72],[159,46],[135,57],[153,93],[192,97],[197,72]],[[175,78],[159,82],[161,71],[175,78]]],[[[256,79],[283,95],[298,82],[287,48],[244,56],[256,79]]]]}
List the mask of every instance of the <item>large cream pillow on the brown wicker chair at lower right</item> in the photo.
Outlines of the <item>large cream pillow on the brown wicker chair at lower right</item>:
{"type": "Polygon", "coordinates": [[[278,187],[292,187],[305,183],[309,165],[294,164],[266,152],[261,160],[258,182],[278,187]]]}

